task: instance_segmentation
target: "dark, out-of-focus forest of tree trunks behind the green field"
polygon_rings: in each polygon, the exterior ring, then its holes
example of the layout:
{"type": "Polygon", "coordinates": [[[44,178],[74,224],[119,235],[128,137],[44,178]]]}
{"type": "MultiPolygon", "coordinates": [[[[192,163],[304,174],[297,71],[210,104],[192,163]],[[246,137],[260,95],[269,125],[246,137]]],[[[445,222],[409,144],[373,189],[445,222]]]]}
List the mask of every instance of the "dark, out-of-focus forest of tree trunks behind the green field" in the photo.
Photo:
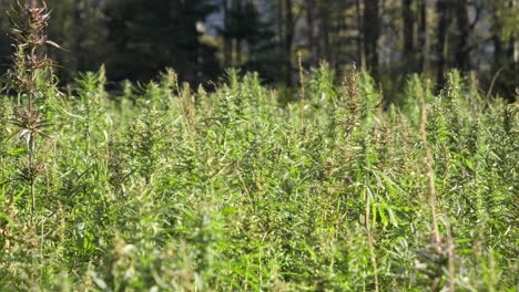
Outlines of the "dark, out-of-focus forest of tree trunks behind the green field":
{"type": "MultiPolygon", "coordinates": [[[[0,74],[12,53],[0,0],[0,74]]],[[[146,82],[165,67],[196,85],[228,67],[265,83],[298,86],[327,62],[337,76],[368,70],[387,96],[410,73],[440,88],[458,69],[486,90],[515,98],[519,44],[516,0],[48,0],[49,49],[68,84],[105,64],[109,80],[146,82]]]]}

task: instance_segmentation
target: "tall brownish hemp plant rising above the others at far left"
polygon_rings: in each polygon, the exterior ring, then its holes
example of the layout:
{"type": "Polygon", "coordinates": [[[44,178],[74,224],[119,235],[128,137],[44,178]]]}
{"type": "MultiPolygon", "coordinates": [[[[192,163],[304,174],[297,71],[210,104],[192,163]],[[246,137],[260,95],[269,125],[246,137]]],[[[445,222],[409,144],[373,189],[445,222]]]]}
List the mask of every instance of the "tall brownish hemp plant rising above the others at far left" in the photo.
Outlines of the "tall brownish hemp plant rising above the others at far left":
{"type": "Polygon", "coordinates": [[[14,53],[12,67],[0,81],[8,90],[18,94],[18,109],[10,123],[17,127],[10,137],[19,136],[26,142],[27,163],[19,167],[19,178],[30,185],[31,213],[35,209],[35,181],[43,170],[38,161],[37,138],[51,138],[44,129],[51,125],[39,107],[49,95],[49,88],[55,88],[52,75],[52,61],[44,54],[47,45],[59,48],[48,40],[45,28],[50,12],[45,1],[17,1],[8,12],[11,23],[10,35],[14,53]]]}

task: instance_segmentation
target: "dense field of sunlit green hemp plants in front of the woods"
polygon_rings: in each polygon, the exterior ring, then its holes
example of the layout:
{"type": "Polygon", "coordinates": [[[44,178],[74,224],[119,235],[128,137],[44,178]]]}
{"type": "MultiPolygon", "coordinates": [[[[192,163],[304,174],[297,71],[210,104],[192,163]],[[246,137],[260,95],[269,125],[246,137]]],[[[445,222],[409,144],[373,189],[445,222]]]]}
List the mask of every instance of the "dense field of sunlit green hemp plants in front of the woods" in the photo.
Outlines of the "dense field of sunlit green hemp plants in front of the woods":
{"type": "Polygon", "coordinates": [[[103,67],[60,91],[27,11],[0,80],[0,291],[519,289],[517,102],[452,71],[386,105],[326,65],[293,95],[172,70],[108,93],[103,67]]]}

